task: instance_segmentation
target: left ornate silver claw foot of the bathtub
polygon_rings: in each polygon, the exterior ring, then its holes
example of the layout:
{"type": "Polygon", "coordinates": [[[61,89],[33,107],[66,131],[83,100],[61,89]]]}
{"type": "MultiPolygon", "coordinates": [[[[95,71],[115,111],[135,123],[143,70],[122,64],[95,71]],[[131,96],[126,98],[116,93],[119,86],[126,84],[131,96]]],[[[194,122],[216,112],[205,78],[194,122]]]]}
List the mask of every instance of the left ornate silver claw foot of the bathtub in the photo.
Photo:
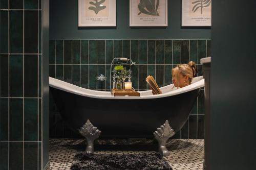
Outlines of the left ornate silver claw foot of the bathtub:
{"type": "Polygon", "coordinates": [[[97,127],[94,127],[88,119],[86,124],[80,128],[79,132],[87,140],[86,154],[94,154],[93,142],[99,137],[101,131],[97,127]]]}

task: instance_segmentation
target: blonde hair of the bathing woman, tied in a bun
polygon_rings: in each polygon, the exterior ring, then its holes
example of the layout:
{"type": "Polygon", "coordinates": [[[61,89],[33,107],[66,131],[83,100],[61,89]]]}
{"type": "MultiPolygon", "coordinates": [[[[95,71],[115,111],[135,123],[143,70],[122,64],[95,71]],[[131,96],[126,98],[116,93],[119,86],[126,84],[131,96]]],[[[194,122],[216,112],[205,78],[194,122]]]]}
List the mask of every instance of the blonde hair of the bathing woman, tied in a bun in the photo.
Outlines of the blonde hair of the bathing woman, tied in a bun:
{"type": "Polygon", "coordinates": [[[187,64],[178,64],[175,68],[173,68],[172,76],[177,79],[177,85],[179,87],[179,74],[182,76],[188,76],[188,84],[191,84],[193,77],[197,76],[197,72],[196,63],[189,61],[187,64]]]}

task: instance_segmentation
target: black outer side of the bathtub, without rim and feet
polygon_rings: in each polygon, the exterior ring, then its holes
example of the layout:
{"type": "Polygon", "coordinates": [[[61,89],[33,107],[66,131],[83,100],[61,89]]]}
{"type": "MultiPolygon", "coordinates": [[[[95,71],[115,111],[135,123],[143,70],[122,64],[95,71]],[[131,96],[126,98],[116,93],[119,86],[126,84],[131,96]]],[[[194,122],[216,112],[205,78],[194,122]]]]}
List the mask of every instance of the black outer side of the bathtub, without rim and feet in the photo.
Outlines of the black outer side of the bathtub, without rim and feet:
{"type": "Polygon", "coordinates": [[[152,138],[165,120],[178,132],[189,116],[199,89],[157,99],[97,99],[50,87],[63,120],[78,133],[90,119],[100,137],[152,138]]]}

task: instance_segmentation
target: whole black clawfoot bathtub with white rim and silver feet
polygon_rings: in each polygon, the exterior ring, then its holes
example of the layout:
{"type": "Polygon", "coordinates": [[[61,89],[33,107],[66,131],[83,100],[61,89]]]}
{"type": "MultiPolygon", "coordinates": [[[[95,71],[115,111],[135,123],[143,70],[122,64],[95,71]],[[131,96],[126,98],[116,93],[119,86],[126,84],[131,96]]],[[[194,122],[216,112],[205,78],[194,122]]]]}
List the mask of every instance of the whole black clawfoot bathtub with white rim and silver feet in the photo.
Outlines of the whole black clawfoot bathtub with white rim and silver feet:
{"type": "Polygon", "coordinates": [[[88,153],[93,153],[93,140],[101,131],[102,137],[155,136],[164,156],[168,155],[165,141],[186,123],[204,86],[203,78],[197,77],[183,88],[173,88],[173,84],[161,87],[162,94],[152,95],[147,90],[140,91],[140,96],[113,96],[110,91],[84,89],[54,78],[49,78],[49,82],[63,120],[74,131],[91,135],[83,135],[87,140],[92,138],[87,142],[91,143],[87,146],[88,153]],[[88,126],[83,126],[85,123],[88,126]]]}

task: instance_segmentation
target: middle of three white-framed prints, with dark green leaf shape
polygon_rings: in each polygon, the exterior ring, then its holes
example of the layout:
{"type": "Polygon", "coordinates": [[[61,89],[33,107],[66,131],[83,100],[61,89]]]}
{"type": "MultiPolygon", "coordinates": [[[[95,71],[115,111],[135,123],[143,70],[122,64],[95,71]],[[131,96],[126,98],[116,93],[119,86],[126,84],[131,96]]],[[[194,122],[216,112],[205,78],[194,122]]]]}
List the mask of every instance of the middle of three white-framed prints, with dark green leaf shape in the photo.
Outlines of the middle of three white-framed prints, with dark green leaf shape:
{"type": "Polygon", "coordinates": [[[167,0],[130,0],[130,27],[167,27],[167,0]],[[141,4],[144,3],[144,4],[141,4]]]}

